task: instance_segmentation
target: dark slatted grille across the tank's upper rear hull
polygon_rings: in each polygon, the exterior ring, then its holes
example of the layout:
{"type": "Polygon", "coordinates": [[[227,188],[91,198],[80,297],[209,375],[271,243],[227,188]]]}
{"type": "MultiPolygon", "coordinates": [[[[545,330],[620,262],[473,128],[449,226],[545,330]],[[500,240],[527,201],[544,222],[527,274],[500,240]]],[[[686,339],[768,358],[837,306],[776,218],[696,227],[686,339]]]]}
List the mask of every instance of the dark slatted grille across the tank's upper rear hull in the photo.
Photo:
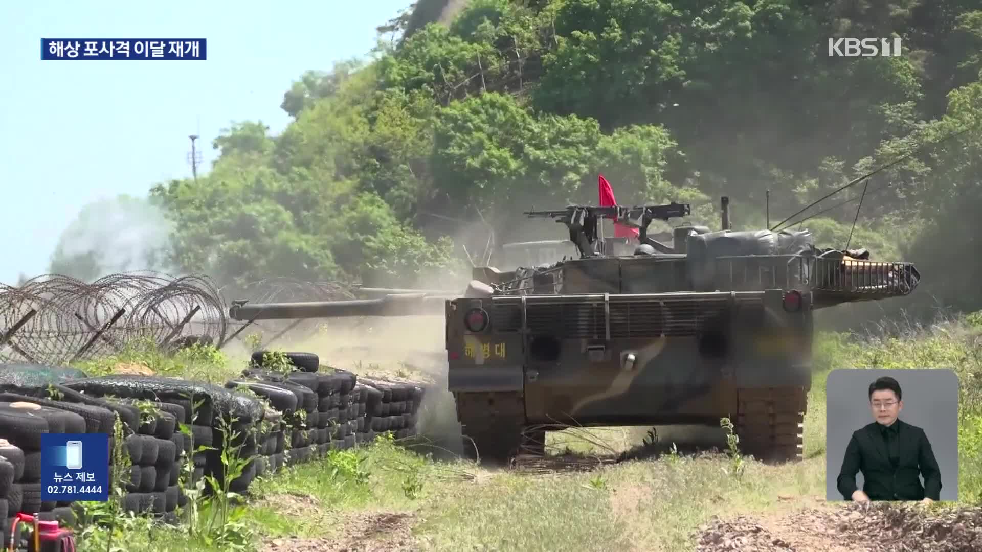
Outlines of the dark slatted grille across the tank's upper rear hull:
{"type": "MultiPolygon", "coordinates": [[[[658,336],[691,336],[727,322],[748,310],[760,310],[759,300],[668,299],[663,301],[612,302],[610,304],[611,339],[658,336]]],[[[527,304],[526,323],[530,335],[550,335],[560,339],[605,339],[607,323],[604,304],[550,303],[527,304]]],[[[518,332],[521,328],[520,304],[496,304],[492,325],[497,332],[518,332]]]]}

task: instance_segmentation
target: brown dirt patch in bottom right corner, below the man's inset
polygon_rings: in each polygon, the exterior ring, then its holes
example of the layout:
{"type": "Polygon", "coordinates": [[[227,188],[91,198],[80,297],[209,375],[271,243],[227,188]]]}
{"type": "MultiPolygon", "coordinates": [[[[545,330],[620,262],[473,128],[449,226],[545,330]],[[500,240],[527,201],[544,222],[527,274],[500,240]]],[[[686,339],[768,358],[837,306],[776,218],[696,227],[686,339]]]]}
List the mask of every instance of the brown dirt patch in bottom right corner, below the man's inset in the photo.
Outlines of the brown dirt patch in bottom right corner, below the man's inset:
{"type": "Polygon", "coordinates": [[[919,506],[847,504],[776,517],[716,519],[699,529],[698,552],[982,550],[982,508],[930,514],[919,506]]]}

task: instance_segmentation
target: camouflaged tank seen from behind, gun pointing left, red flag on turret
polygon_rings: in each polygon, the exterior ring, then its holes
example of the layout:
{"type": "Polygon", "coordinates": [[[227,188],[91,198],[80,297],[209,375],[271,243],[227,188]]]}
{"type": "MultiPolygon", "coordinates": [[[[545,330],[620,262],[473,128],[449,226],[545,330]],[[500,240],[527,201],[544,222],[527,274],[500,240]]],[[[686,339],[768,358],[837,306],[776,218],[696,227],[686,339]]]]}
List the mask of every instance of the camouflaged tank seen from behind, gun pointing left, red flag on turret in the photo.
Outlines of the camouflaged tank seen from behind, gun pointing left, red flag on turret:
{"type": "MultiPolygon", "coordinates": [[[[476,267],[456,295],[238,302],[231,315],[442,312],[464,450],[484,461],[544,454],[545,432],[569,426],[719,427],[723,417],[744,454],[800,460],[814,310],[907,295],[920,275],[864,249],[816,248],[807,230],[734,231],[721,203],[724,230],[680,226],[667,241],[648,236],[648,225],[689,214],[687,204],[529,211],[565,223],[578,257],[476,267]],[[604,218],[638,229],[629,253],[603,252],[604,218]]],[[[376,290],[387,291],[400,290],[376,290]]]]}

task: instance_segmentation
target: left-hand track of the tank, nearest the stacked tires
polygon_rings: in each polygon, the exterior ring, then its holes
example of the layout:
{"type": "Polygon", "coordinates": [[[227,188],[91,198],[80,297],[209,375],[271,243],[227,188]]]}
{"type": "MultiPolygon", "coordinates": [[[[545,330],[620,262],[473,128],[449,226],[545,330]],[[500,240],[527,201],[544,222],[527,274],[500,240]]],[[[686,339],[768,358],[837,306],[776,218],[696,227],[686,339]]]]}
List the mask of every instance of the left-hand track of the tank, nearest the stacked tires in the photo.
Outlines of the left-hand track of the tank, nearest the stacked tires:
{"type": "Polygon", "coordinates": [[[456,392],[454,397],[466,458],[507,466],[522,456],[545,454],[545,431],[526,426],[520,392],[456,392]]]}

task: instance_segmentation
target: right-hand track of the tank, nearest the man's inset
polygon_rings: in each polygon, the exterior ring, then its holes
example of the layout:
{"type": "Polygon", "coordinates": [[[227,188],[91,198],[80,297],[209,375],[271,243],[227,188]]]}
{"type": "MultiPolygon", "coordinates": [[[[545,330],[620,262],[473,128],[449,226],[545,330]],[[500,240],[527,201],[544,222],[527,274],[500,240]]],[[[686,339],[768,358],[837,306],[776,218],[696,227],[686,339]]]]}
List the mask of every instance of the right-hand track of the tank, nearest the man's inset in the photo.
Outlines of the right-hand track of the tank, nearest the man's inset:
{"type": "Polygon", "coordinates": [[[804,387],[738,389],[734,420],[739,449],[761,462],[804,458],[804,387]]]}

